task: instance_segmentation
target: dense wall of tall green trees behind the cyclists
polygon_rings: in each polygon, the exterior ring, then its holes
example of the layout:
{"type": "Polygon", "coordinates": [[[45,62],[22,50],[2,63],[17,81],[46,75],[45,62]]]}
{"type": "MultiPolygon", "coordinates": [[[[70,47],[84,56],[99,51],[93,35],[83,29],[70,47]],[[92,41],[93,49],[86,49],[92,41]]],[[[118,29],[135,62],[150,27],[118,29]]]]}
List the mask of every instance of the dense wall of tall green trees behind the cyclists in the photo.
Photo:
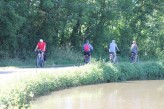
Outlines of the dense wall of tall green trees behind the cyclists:
{"type": "Polygon", "coordinates": [[[31,59],[40,38],[49,57],[66,46],[80,52],[86,39],[102,57],[115,39],[122,56],[136,40],[140,57],[161,58],[163,13],[163,0],[1,0],[0,58],[31,59]]]}

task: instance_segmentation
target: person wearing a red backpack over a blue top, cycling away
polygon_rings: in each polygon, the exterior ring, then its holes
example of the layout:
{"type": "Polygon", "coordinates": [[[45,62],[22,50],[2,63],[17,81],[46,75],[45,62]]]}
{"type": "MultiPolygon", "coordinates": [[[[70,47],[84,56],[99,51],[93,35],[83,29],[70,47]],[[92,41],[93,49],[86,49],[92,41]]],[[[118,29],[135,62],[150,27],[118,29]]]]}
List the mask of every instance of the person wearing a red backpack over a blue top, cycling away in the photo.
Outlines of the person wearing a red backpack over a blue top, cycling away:
{"type": "Polygon", "coordinates": [[[88,55],[91,58],[91,51],[93,51],[93,46],[89,43],[89,40],[86,40],[86,43],[83,45],[82,49],[84,52],[84,60],[86,55],[88,55]]]}

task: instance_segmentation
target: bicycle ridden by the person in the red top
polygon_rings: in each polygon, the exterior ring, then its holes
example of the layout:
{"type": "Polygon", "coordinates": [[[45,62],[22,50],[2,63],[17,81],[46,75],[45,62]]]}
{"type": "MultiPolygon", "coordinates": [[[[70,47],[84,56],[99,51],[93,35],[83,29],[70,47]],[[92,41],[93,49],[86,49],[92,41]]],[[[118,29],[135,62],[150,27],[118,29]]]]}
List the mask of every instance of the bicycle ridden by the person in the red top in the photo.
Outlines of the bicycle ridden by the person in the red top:
{"type": "Polygon", "coordinates": [[[37,49],[37,56],[36,56],[36,67],[44,67],[44,52],[37,49]]]}

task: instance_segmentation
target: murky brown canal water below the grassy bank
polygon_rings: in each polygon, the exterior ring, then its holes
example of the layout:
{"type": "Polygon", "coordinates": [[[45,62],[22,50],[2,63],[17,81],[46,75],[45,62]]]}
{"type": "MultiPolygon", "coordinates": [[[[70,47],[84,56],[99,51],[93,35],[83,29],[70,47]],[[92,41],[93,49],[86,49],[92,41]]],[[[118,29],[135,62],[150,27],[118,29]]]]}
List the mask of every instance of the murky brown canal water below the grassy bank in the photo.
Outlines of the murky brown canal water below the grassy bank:
{"type": "Polygon", "coordinates": [[[164,109],[164,80],[65,89],[33,101],[32,109],[164,109]]]}

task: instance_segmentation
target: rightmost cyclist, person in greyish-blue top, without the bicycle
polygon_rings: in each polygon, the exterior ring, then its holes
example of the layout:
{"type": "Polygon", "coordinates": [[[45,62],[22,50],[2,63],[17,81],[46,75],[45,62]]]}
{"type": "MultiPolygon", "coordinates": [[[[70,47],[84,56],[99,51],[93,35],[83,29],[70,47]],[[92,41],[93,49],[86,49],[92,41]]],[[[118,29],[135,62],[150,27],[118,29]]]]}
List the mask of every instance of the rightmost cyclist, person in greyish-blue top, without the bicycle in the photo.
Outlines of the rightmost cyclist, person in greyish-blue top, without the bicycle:
{"type": "Polygon", "coordinates": [[[136,44],[136,41],[133,41],[131,45],[131,53],[134,54],[134,62],[137,61],[137,56],[138,56],[138,46],[136,44]]]}

